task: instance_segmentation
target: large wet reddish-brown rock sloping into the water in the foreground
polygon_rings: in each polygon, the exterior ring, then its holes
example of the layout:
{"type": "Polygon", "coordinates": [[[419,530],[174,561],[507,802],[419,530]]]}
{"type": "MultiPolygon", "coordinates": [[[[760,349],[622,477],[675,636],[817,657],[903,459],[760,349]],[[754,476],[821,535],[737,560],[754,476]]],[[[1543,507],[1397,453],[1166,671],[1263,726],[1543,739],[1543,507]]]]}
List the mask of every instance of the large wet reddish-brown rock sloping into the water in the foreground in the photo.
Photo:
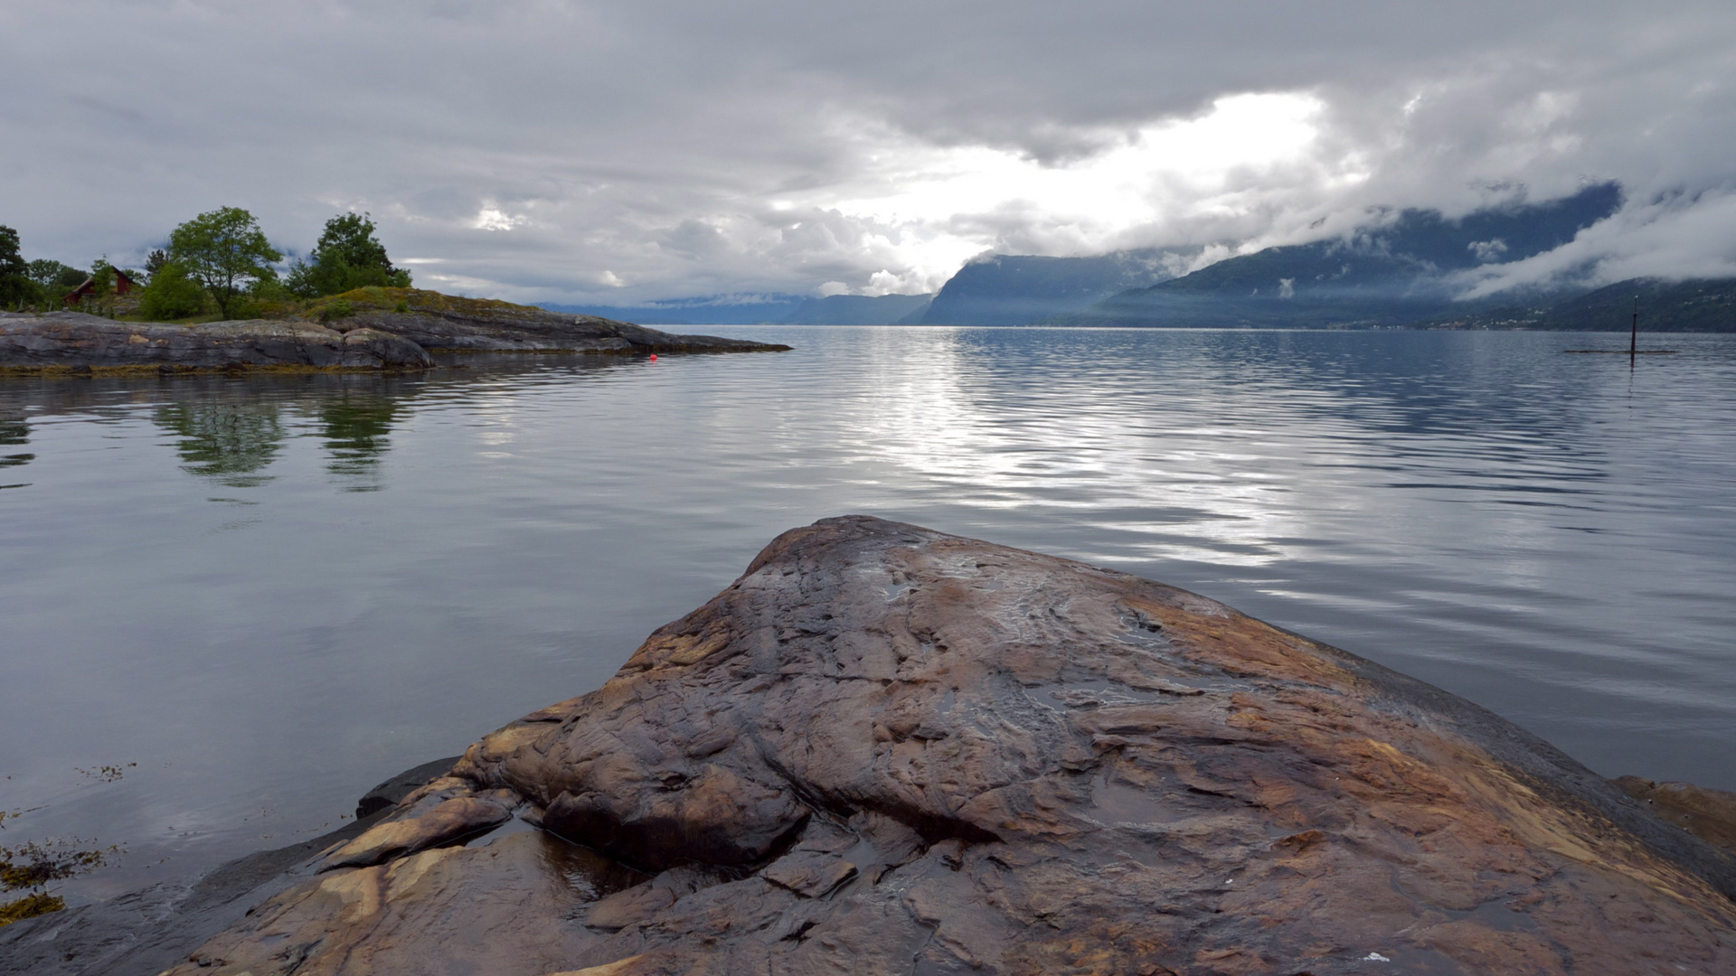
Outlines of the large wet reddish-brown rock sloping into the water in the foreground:
{"type": "Polygon", "coordinates": [[[1727,854],[1436,688],[844,518],[174,973],[1712,974],[1733,893],[1727,854]]]}

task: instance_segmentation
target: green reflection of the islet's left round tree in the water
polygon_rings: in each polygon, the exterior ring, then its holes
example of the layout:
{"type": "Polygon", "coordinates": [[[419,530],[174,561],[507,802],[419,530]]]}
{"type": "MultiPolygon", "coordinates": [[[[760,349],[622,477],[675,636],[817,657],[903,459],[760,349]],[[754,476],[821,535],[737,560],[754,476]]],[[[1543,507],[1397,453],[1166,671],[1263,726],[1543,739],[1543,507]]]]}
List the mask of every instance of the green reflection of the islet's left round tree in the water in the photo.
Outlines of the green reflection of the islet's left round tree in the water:
{"type": "Polygon", "coordinates": [[[271,401],[184,399],[158,408],[153,420],[181,436],[182,471],[227,488],[271,481],[262,472],[283,450],[281,408],[271,401]]]}

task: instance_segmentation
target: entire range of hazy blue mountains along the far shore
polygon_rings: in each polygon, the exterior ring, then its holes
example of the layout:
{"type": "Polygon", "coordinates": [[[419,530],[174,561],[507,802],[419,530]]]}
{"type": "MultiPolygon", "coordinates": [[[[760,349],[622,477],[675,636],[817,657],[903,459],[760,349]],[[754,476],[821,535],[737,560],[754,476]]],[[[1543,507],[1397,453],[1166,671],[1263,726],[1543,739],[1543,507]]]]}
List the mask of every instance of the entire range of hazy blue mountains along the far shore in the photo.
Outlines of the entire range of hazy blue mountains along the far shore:
{"type": "Polygon", "coordinates": [[[1092,257],[991,254],[934,295],[755,293],[648,306],[543,306],[644,325],[1116,325],[1260,328],[1641,328],[1736,330],[1736,278],[1632,280],[1510,290],[1457,300],[1467,276],[1550,252],[1621,207],[1621,188],[1592,184],[1542,203],[1448,219],[1437,210],[1371,212],[1351,234],[1271,247],[1177,276],[1200,248],[1092,257]]]}

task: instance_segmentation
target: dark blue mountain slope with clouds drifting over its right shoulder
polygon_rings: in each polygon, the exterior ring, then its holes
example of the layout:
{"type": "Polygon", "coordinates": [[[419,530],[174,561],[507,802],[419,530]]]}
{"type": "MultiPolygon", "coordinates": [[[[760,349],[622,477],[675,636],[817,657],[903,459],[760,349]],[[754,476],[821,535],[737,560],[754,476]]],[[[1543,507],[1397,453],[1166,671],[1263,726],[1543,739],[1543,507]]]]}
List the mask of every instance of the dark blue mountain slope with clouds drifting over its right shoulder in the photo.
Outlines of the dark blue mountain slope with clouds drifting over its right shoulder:
{"type": "Polygon", "coordinates": [[[1554,250],[1618,207],[1621,188],[1606,182],[1547,203],[1451,221],[1437,210],[1401,210],[1344,238],[1231,257],[1052,321],[1290,328],[1415,323],[1472,311],[1451,300],[1455,273],[1554,250]]]}

